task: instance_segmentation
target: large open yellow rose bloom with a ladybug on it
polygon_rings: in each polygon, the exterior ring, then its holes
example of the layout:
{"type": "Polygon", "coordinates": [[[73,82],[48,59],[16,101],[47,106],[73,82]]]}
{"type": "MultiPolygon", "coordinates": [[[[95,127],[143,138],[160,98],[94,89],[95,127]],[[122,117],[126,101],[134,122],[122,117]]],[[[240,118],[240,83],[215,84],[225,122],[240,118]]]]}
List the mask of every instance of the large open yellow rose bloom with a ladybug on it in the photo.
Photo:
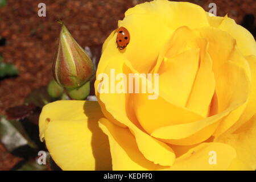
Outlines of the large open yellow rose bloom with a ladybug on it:
{"type": "Polygon", "coordinates": [[[158,97],[100,93],[104,79],[98,79],[98,102],[44,106],[40,138],[57,165],[66,170],[255,170],[253,36],[228,16],[166,0],[127,10],[118,27],[129,31],[130,43],[119,50],[114,30],[102,48],[96,77],[110,78],[113,69],[127,77],[157,73],[158,97]]]}

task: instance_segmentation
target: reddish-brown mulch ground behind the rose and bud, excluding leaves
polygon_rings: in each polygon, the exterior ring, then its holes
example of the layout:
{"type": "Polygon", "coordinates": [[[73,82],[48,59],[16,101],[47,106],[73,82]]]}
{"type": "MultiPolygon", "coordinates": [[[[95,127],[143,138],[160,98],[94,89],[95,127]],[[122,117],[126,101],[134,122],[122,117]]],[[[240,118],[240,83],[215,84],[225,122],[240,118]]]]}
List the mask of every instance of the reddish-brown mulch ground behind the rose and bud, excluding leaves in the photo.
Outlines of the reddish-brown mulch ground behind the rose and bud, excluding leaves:
{"type": "MultiPolygon", "coordinates": [[[[52,78],[52,57],[60,24],[65,25],[82,46],[102,44],[117,21],[123,19],[130,7],[143,0],[7,0],[0,8],[0,36],[6,39],[0,54],[6,63],[19,70],[18,77],[0,80],[0,115],[7,107],[23,104],[24,98],[34,89],[47,85],[52,78]],[[38,16],[38,4],[46,3],[46,17],[38,16]]],[[[209,10],[211,2],[217,5],[217,15],[228,14],[238,24],[246,14],[254,14],[254,0],[189,1],[209,10]]],[[[185,13],[185,12],[184,12],[185,13]]],[[[10,169],[19,159],[7,154],[0,144],[0,170],[10,169]]]]}

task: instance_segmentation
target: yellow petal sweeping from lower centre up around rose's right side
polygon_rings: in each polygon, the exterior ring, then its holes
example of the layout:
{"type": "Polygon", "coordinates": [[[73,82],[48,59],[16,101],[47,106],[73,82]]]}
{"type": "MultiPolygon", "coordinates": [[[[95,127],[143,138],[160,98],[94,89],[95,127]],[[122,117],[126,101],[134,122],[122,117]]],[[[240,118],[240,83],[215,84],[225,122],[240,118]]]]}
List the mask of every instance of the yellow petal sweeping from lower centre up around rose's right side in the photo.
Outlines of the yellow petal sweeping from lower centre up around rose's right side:
{"type": "MultiPolygon", "coordinates": [[[[177,139],[183,139],[181,140],[181,144],[191,144],[190,142],[195,141],[195,136],[197,138],[197,142],[203,142],[203,140],[207,139],[205,136],[208,135],[208,137],[210,137],[210,135],[212,135],[212,133],[209,132],[209,128],[205,127],[210,125],[216,127],[216,124],[214,123],[221,121],[220,119],[226,117],[228,114],[230,114],[231,111],[234,111],[238,107],[243,106],[243,104],[245,104],[247,101],[250,85],[245,70],[237,64],[232,63],[231,61],[224,64],[220,70],[222,70],[222,72],[216,76],[216,80],[218,81],[216,81],[216,92],[223,94],[219,94],[218,99],[220,99],[222,104],[225,105],[223,107],[226,108],[224,111],[221,110],[221,113],[202,119],[201,121],[162,127],[155,130],[151,135],[161,139],[175,139],[168,140],[170,143],[175,142],[174,144],[179,144],[179,140],[177,139]],[[228,72],[226,72],[227,70],[228,72]],[[220,79],[218,79],[218,77],[220,79]],[[225,89],[226,92],[224,92],[223,89],[225,89]],[[193,140],[189,138],[189,136],[191,136],[193,140]],[[185,138],[188,140],[187,142],[184,141],[185,138]]],[[[235,117],[239,114],[239,112],[234,111],[233,115],[224,118],[226,125],[229,125],[229,123],[233,122],[232,117],[235,117]]]]}

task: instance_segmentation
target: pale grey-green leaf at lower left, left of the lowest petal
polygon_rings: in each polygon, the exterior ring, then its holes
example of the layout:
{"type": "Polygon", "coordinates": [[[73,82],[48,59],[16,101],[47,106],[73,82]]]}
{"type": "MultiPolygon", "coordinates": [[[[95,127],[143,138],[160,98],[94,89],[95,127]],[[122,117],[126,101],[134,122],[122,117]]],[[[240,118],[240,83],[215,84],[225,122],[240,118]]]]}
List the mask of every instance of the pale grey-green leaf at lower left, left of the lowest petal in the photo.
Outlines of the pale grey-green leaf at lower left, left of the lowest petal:
{"type": "Polygon", "coordinates": [[[9,121],[5,117],[0,118],[0,141],[10,152],[21,146],[37,148],[36,144],[28,137],[22,123],[9,121]]]}

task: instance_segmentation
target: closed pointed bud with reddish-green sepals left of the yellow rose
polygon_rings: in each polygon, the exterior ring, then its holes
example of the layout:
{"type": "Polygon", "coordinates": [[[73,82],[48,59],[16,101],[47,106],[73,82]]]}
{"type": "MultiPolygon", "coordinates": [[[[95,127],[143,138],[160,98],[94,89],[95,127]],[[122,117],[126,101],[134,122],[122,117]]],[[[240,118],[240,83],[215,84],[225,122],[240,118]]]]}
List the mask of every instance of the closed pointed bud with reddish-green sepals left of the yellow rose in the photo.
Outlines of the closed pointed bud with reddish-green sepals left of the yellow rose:
{"type": "Polygon", "coordinates": [[[53,77],[64,88],[75,89],[84,85],[93,75],[93,63],[62,24],[56,57],[53,61],[53,77]]]}

